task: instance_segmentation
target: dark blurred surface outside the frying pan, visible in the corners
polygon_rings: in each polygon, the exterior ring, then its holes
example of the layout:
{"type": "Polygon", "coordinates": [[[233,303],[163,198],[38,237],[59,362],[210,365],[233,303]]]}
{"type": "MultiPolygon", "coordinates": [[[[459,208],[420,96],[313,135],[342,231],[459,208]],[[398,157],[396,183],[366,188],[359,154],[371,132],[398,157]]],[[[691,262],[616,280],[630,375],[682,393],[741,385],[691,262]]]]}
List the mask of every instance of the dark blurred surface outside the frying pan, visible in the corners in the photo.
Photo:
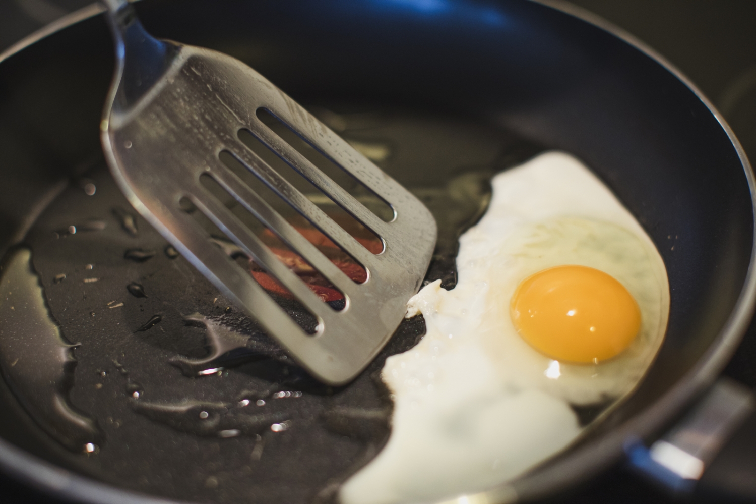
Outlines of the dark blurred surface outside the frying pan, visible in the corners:
{"type": "MultiPolygon", "coordinates": [[[[209,6],[213,1],[208,0],[209,6]]],[[[90,3],[91,0],[0,0],[0,51],[90,3]]],[[[631,33],[682,70],[720,110],[746,153],[756,160],[756,0],[573,0],[572,4],[631,33]]],[[[725,374],[748,387],[756,386],[756,324],[751,324],[725,374]]],[[[756,453],[754,418],[741,428],[737,440],[725,448],[728,453],[756,453]]],[[[730,462],[725,459],[717,459],[704,476],[696,493],[698,502],[734,502],[726,490],[723,493],[719,481],[714,481],[717,478],[710,476],[727,474],[730,462]]],[[[756,468],[749,474],[756,481],[756,468]]],[[[581,504],[676,502],[622,466],[610,469],[564,500],[581,504]]],[[[56,501],[0,476],[0,502],[56,501]]],[[[756,494],[747,502],[756,502],[756,494]]]]}

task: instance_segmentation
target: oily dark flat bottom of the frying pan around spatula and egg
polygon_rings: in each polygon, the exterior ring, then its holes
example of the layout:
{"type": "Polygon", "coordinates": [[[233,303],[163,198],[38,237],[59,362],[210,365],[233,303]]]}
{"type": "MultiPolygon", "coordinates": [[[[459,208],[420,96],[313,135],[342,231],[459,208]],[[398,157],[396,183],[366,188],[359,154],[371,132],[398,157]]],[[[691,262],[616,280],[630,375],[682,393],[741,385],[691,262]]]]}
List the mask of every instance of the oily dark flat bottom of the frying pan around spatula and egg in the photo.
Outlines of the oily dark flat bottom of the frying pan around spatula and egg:
{"type": "MultiPolygon", "coordinates": [[[[426,285],[455,285],[457,238],[485,212],[491,177],[544,150],[454,117],[311,110],[434,214],[438,245],[426,285]]],[[[336,216],[333,205],[313,198],[336,216]]],[[[209,222],[198,222],[212,233],[209,222]]],[[[350,230],[369,242],[358,227],[350,230]]],[[[216,244],[249,266],[305,328],[314,323],[232,244],[216,244]]],[[[342,269],[355,269],[333,254],[342,269]]],[[[20,403],[67,447],[72,468],[175,499],[329,502],[388,438],[386,357],[425,333],[422,316],[407,319],[354,382],[314,381],[136,216],[102,161],[71,181],[2,268],[0,366],[20,403]]],[[[300,273],[339,307],[337,292],[306,267],[300,273]]],[[[581,425],[606,406],[571,405],[581,425]]]]}

